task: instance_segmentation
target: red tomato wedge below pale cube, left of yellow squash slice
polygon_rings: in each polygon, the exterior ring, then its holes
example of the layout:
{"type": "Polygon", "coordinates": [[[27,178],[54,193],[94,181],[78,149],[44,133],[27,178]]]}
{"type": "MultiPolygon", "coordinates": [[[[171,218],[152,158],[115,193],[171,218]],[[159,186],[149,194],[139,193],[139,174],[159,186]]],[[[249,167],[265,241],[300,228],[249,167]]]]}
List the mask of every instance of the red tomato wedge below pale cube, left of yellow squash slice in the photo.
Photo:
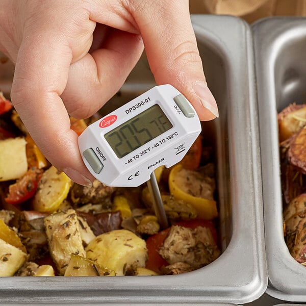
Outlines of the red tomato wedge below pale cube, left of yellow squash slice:
{"type": "Polygon", "coordinates": [[[15,184],[10,185],[5,200],[10,204],[17,205],[30,199],[37,190],[42,172],[36,167],[30,168],[15,184]]]}

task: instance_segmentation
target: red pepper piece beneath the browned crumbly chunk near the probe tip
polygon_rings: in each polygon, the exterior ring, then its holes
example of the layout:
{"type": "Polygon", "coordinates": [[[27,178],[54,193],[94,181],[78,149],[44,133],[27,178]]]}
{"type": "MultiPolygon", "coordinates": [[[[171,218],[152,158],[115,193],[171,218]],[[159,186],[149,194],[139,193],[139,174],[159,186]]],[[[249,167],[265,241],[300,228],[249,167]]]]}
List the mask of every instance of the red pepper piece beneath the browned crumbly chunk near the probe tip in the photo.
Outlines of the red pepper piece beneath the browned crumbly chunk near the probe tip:
{"type": "MultiPolygon", "coordinates": [[[[198,226],[208,227],[211,230],[214,240],[217,244],[217,239],[218,239],[217,231],[212,221],[202,220],[202,219],[193,219],[193,220],[187,220],[187,221],[179,221],[175,223],[174,225],[181,225],[184,227],[192,228],[193,230],[198,226]]],[[[160,256],[159,249],[162,246],[169,231],[170,231],[170,227],[166,228],[165,230],[155,235],[150,236],[146,240],[146,246],[148,250],[148,259],[146,261],[145,267],[147,269],[150,269],[160,274],[162,274],[161,268],[163,266],[167,266],[168,263],[160,256]]]]}

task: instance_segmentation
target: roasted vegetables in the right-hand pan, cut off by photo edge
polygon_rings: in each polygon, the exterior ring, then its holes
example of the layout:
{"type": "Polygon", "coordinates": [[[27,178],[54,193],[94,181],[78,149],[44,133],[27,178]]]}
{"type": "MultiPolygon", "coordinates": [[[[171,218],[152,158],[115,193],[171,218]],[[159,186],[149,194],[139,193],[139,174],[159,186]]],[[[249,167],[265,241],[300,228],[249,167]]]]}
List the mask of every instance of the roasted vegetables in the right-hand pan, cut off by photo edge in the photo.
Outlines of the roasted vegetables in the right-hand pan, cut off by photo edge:
{"type": "Polygon", "coordinates": [[[292,257],[306,265],[306,105],[278,114],[285,240],[292,257]]]}

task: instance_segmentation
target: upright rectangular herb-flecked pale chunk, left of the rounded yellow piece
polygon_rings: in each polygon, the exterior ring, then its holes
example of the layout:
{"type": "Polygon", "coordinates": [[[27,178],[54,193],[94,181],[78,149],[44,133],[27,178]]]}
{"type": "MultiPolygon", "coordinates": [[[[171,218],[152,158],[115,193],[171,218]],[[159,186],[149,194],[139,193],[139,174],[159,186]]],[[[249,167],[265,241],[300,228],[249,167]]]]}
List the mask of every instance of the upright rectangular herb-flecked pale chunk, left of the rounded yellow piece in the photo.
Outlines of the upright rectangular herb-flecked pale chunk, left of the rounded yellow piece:
{"type": "MultiPolygon", "coordinates": [[[[82,227],[73,209],[51,214],[44,218],[50,254],[60,275],[65,273],[71,253],[85,257],[82,227]]],[[[84,221],[85,224],[85,221],[84,221]]],[[[84,226],[83,224],[83,226],[84,226]]],[[[89,227],[85,224],[85,227],[89,227]]]]}

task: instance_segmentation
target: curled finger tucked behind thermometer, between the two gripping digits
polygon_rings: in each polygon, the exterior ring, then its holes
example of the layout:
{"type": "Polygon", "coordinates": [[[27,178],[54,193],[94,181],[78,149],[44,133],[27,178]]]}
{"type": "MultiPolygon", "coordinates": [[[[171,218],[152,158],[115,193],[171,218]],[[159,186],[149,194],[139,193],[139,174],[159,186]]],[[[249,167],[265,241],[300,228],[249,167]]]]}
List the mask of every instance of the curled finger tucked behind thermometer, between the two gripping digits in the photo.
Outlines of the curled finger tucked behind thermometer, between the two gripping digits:
{"type": "Polygon", "coordinates": [[[70,66],[62,98],[75,118],[97,112],[120,89],[143,52],[140,35],[107,31],[106,40],[96,43],[99,48],[70,66]]]}

